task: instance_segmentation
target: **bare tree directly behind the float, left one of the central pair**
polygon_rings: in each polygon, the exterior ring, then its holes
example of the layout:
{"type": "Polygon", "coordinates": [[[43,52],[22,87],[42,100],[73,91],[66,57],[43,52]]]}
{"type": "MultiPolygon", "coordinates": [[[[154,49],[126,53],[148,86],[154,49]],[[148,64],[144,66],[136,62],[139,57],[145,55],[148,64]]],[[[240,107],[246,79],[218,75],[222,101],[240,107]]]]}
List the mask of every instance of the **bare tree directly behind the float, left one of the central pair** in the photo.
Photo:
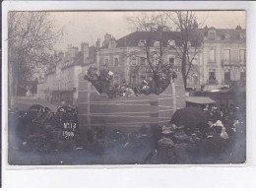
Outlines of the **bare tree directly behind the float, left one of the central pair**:
{"type": "MultiPolygon", "coordinates": [[[[144,56],[140,56],[140,58],[146,60],[153,73],[154,80],[158,81],[159,75],[164,68],[164,56],[169,49],[166,35],[164,35],[164,32],[169,31],[168,15],[163,12],[157,12],[152,15],[142,13],[128,18],[128,22],[137,32],[147,32],[138,44],[144,50],[144,56]]],[[[138,58],[138,54],[138,51],[133,51],[127,57],[138,58]]]]}

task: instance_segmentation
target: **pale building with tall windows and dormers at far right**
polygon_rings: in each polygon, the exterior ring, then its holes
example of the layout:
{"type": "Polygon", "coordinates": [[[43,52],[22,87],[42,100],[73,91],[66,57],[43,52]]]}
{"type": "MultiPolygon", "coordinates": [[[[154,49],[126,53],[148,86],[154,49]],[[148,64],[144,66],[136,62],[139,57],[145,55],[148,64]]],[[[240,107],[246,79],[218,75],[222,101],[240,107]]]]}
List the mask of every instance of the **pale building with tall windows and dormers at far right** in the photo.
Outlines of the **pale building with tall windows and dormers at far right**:
{"type": "Polygon", "coordinates": [[[246,31],[206,29],[203,45],[202,85],[205,90],[229,87],[238,82],[245,87],[246,31]]]}

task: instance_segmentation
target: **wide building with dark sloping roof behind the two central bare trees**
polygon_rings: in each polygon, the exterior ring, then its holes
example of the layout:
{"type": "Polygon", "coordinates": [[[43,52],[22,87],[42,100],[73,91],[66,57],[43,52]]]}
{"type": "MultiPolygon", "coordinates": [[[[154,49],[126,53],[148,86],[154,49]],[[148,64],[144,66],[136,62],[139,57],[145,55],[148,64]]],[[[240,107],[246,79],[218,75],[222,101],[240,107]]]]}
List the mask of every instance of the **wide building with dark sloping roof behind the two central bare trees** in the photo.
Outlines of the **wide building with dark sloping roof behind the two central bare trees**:
{"type": "MultiPolygon", "coordinates": [[[[140,84],[143,80],[148,80],[152,76],[152,71],[147,64],[147,52],[145,51],[143,40],[152,38],[154,42],[151,51],[158,52],[160,51],[159,41],[157,40],[158,33],[132,32],[117,40],[106,33],[102,47],[96,51],[97,67],[107,66],[114,73],[113,84],[120,84],[123,80],[128,84],[140,84]],[[154,40],[154,37],[156,37],[156,40],[154,40]]],[[[164,41],[168,41],[168,44],[175,45],[179,37],[179,32],[163,32],[162,35],[164,36],[164,41]]],[[[191,54],[193,54],[192,49],[191,54]]],[[[171,64],[180,70],[181,62],[175,49],[165,48],[162,58],[165,64],[171,64]]],[[[199,77],[203,64],[202,58],[202,50],[199,48],[189,74],[188,87],[200,88],[201,82],[199,77]]]]}

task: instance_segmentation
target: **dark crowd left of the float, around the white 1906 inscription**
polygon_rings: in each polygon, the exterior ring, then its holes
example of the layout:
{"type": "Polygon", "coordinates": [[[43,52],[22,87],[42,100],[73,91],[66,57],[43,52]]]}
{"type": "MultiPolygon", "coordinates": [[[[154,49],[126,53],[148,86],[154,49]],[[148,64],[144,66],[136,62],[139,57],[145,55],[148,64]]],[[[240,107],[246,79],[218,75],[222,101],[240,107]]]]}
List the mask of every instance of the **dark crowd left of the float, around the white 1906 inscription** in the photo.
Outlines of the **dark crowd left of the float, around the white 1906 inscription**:
{"type": "Polygon", "coordinates": [[[77,110],[65,101],[56,112],[40,104],[33,104],[27,110],[10,110],[9,124],[12,127],[9,135],[15,136],[10,139],[10,148],[49,152],[70,150],[75,146],[77,110]]]}

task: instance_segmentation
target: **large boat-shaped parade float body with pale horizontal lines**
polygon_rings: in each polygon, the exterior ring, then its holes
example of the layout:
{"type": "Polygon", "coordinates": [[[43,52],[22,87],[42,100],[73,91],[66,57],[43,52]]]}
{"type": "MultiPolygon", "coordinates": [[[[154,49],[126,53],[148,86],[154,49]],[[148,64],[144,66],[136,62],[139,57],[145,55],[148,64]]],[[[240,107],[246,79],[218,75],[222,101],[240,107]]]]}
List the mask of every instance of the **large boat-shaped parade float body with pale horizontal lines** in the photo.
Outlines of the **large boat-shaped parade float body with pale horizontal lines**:
{"type": "Polygon", "coordinates": [[[182,75],[158,96],[117,96],[99,94],[84,75],[79,77],[78,122],[80,132],[94,127],[138,128],[152,124],[166,125],[173,113],[185,106],[182,75]]]}

